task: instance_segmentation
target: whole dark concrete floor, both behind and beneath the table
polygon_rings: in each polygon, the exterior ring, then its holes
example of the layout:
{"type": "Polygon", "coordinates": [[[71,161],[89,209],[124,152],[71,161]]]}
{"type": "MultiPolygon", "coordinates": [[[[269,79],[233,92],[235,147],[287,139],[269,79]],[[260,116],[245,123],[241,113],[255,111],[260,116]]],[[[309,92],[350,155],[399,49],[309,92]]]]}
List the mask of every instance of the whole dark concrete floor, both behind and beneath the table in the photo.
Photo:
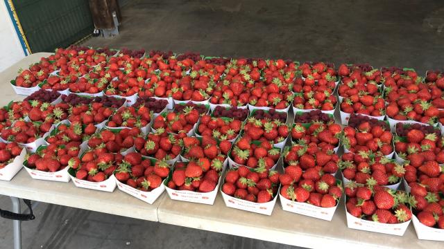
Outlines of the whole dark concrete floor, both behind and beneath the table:
{"type": "MultiPolygon", "coordinates": [[[[129,1],[121,35],[89,46],[444,68],[444,1],[129,1]],[[309,4],[308,4],[309,3],[309,4]]],[[[118,190],[116,190],[118,191],[118,190]]],[[[10,208],[0,196],[0,208],[10,208]]],[[[293,248],[40,203],[24,248],[293,248]]],[[[0,249],[12,248],[0,219],[0,249]]]]}

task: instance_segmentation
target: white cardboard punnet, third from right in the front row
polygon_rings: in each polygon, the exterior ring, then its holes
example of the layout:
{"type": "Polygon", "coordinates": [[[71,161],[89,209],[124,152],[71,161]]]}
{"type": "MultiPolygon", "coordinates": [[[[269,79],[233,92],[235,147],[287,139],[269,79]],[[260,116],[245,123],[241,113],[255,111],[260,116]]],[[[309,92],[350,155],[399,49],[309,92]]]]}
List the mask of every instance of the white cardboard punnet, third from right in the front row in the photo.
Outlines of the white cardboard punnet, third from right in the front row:
{"type": "Polygon", "coordinates": [[[314,217],[317,219],[323,219],[325,221],[331,221],[336,212],[336,208],[338,208],[339,201],[333,208],[322,208],[315,205],[311,205],[309,203],[300,203],[297,201],[291,201],[289,199],[284,198],[281,194],[279,194],[280,204],[282,205],[282,210],[293,212],[296,214],[302,214],[305,216],[314,217]]]}

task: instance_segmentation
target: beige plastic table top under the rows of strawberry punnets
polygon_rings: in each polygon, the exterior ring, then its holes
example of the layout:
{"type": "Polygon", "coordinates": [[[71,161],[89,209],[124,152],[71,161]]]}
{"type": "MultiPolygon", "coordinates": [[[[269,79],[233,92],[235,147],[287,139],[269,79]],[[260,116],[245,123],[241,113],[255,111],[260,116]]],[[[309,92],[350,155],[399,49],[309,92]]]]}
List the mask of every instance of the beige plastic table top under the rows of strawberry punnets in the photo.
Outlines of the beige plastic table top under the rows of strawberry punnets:
{"type": "MultiPolygon", "coordinates": [[[[47,55],[33,54],[0,73],[3,82],[0,94],[6,96],[0,99],[0,104],[24,98],[15,95],[9,81],[17,75],[19,68],[26,68],[47,55]]],[[[330,222],[286,212],[282,210],[280,201],[271,216],[227,208],[220,193],[214,205],[172,201],[166,192],[149,205],[117,189],[108,193],[81,189],[71,182],[33,180],[24,169],[12,181],[0,181],[0,194],[307,248],[325,248],[328,245],[331,248],[432,249],[443,246],[442,242],[418,240],[413,224],[409,225],[403,237],[349,229],[342,203],[330,222]]]]}

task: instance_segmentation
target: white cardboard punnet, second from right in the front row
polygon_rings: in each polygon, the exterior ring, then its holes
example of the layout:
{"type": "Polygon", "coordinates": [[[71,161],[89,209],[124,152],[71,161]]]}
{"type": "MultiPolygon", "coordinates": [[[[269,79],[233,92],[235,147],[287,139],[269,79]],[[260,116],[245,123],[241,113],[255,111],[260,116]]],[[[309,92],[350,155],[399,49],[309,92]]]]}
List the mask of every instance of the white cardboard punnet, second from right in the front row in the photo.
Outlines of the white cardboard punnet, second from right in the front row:
{"type": "MultiPolygon", "coordinates": [[[[344,204],[346,202],[346,198],[344,198],[344,204]]],[[[379,223],[375,221],[367,221],[364,219],[359,219],[355,216],[352,216],[347,211],[347,207],[345,206],[345,215],[347,217],[347,226],[348,228],[356,229],[356,230],[364,230],[369,232],[380,232],[384,234],[391,234],[402,236],[404,235],[405,230],[410,224],[410,221],[406,221],[398,224],[388,224],[388,223],[379,223]]]]}

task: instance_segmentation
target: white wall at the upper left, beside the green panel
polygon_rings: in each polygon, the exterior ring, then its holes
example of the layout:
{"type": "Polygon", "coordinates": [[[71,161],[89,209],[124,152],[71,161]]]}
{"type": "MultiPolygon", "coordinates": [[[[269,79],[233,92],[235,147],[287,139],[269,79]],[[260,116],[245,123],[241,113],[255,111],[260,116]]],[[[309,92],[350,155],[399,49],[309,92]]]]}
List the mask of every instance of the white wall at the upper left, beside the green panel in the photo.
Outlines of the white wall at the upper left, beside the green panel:
{"type": "MultiPolygon", "coordinates": [[[[0,72],[25,57],[5,2],[0,0],[0,72]]],[[[3,82],[0,82],[3,83],[3,82]]]]}

